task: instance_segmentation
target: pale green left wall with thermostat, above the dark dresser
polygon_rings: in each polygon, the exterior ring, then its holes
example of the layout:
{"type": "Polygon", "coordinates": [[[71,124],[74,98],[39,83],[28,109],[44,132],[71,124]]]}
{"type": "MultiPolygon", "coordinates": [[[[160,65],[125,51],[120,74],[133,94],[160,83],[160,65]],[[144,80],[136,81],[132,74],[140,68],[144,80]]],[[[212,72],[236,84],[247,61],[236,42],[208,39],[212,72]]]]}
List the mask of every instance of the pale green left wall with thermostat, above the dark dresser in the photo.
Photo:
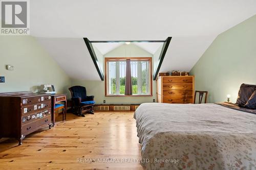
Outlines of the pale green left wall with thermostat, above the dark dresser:
{"type": "Polygon", "coordinates": [[[41,84],[54,84],[57,92],[68,92],[70,78],[34,37],[0,36],[0,92],[40,90],[41,84]],[[14,66],[7,70],[6,65],[14,66]]]}

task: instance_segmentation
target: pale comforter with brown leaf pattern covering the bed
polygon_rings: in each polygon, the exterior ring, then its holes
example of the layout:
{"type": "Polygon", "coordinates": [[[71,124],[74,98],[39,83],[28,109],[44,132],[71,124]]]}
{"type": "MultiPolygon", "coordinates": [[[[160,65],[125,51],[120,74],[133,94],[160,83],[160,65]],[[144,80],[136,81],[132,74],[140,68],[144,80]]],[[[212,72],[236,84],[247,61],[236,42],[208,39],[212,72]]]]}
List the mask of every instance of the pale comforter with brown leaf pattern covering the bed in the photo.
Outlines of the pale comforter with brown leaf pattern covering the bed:
{"type": "Polygon", "coordinates": [[[256,169],[254,114],[217,104],[144,103],[134,118],[144,169],[256,169]]]}

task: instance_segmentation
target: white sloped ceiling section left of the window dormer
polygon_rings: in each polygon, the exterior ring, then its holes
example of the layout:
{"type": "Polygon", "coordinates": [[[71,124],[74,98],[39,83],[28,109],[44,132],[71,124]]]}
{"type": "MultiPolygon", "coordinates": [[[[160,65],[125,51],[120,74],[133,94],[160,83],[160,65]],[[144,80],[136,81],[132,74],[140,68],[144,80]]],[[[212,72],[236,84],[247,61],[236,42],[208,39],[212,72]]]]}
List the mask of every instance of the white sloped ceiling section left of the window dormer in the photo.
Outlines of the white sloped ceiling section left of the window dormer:
{"type": "Polygon", "coordinates": [[[100,80],[82,38],[37,38],[71,78],[100,80]]]}

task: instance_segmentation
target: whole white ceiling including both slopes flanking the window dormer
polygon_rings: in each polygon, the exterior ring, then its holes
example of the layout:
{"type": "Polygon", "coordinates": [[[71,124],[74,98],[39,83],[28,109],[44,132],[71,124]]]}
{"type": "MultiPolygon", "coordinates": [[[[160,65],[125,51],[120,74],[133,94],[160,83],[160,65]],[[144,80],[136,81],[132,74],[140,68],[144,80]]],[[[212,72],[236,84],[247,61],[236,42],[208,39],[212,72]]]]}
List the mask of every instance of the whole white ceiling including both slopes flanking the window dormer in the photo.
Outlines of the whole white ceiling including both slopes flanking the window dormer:
{"type": "Polygon", "coordinates": [[[100,80],[82,37],[173,37],[160,71],[189,71],[216,36],[256,14],[256,1],[33,0],[30,9],[31,35],[59,65],[73,78],[100,80]]]}

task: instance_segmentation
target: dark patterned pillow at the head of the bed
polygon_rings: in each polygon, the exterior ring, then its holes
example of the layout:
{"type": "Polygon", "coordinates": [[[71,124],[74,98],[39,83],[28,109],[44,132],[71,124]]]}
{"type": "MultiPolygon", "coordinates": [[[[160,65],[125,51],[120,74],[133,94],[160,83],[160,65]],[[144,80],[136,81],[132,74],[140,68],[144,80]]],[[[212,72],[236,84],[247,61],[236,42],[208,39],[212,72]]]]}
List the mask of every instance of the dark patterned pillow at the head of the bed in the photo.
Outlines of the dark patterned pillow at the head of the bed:
{"type": "Polygon", "coordinates": [[[238,92],[237,104],[240,107],[244,107],[247,101],[250,99],[251,94],[256,89],[256,85],[242,84],[238,92]]]}

